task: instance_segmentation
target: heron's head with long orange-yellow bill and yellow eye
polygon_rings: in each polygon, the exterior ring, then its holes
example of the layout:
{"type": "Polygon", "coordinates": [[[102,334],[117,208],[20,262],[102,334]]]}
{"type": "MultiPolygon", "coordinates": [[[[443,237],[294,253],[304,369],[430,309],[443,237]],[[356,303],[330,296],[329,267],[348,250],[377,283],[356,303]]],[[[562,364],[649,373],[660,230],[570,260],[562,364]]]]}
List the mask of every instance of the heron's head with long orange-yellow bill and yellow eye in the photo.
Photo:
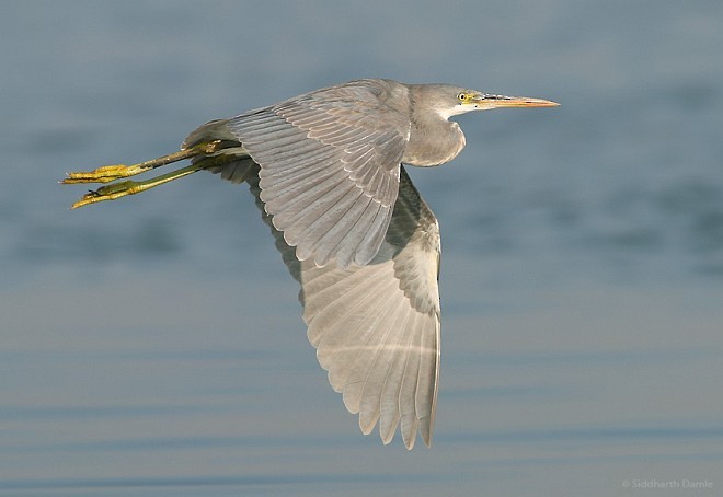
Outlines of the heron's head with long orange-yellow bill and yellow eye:
{"type": "Polygon", "coordinates": [[[489,111],[500,107],[555,107],[560,105],[549,100],[496,95],[448,85],[431,85],[427,94],[431,102],[434,102],[435,111],[444,118],[472,111],[489,111]]]}

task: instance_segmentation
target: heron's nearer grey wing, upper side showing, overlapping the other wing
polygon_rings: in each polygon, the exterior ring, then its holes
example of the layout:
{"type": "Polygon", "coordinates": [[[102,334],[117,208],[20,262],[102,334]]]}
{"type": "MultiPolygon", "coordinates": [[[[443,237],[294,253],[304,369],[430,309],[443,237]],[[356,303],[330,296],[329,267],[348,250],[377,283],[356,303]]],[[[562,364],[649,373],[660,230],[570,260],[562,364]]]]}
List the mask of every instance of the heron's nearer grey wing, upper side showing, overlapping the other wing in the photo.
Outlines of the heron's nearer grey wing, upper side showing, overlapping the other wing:
{"type": "Polygon", "coordinates": [[[377,254],[399,188],[409,117],[383,82],[319,90],[225,122],[261,166],[261,199],[300,261],[365,265],[377,254]]]}

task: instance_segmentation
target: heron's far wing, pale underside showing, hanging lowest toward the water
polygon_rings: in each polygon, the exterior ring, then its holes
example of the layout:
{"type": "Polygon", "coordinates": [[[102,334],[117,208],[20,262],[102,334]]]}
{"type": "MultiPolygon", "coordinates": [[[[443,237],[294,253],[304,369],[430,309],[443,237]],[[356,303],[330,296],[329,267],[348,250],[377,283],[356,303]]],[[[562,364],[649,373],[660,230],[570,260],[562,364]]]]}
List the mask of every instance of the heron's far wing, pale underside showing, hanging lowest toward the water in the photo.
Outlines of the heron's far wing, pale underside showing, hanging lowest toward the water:
{"type": "MultiPolygon", "coordinates": [[[[252,193],[263,212],[255,178],[252,193]]],[[[271,226],[268,216],[264,219],[271,226]]],[[[308,337],[329,381],[359,427],[389,443],[398,426],[408,449],[417,430],[432,442],[439,374],[439,229],[403,167],[389,230],[374,259],[346,268],[299,262],[272,227],[301,284],[308,337]]]]}

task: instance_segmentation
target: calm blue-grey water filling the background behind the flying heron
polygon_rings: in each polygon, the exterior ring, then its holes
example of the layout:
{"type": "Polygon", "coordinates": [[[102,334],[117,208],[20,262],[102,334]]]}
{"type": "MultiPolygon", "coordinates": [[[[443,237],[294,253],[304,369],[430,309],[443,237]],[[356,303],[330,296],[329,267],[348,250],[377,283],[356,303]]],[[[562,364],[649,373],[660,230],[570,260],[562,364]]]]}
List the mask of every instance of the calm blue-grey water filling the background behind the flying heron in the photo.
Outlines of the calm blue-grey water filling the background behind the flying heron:
{"type": "Polygon", "coordinates": [[[3,2],[0,494],[721,495],[722,19],[3,2]],[[432,450],[359,434],[244,187],[71,212],[56,184],[372,76],[562,103],[464,116],[462,155],[411,171],[444,244],[432,450]]]}

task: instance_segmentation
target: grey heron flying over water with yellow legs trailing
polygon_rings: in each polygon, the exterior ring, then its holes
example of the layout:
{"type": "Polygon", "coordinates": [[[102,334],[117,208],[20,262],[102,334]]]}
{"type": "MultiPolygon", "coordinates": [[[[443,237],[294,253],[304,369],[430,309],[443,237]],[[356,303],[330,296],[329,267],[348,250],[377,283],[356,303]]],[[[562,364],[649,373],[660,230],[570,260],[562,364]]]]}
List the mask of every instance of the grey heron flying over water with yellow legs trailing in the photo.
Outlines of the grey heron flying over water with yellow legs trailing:
{"type": "Polygon", "coordinates": [[[450,84],[363,79],[314,90],[192,131],[177,152],[68,173],[108,183],[72,208],[138,194],[198,171],[246,183],[300,284],[309,342],[365,435],[398,428],[432,444],[439,381],[440,238],[404,165],[436,166],[464,148],[451,117],[551,107],[450,84]],[[191,164],[127,180],[181,160],[191,164]]]}

